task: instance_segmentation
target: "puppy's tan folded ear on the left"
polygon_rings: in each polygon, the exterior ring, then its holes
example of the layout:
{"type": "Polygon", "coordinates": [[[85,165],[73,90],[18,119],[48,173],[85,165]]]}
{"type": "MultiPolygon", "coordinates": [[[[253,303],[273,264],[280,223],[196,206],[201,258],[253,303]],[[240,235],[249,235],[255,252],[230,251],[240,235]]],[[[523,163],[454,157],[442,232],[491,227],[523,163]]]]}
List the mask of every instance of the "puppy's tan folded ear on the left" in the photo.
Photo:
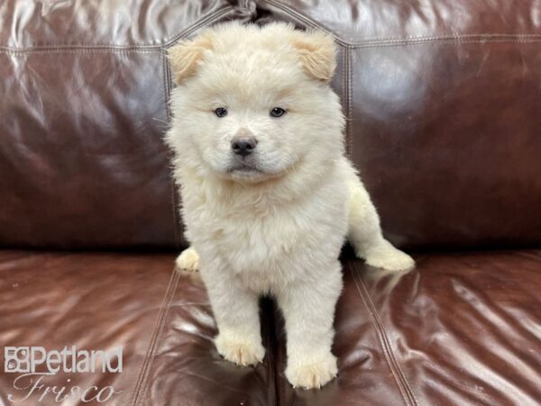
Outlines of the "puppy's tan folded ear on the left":
{"type": "Polygon", "coordinates": [[[179,85],[183,80],[194,75],[199,61],[206,50],[212,50],[212,38],[209,32],[203,32],[194,40],[177,42],[167,52],[173,72],[173,81],[179,85]]]}

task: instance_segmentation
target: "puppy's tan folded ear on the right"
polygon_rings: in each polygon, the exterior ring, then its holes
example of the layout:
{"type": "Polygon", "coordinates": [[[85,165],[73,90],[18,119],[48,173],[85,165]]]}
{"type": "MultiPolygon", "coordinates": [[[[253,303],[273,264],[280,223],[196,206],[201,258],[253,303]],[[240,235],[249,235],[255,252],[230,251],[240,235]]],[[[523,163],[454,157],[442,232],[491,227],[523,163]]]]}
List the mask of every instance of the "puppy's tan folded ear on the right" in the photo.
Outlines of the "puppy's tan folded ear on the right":
{"type": "Polygon", "coordinates": [[[333,36],[326,32],[298,32],[293,47],[303,68],[312,78],[329,82],[336,67],[336,48],[333,36]]]}

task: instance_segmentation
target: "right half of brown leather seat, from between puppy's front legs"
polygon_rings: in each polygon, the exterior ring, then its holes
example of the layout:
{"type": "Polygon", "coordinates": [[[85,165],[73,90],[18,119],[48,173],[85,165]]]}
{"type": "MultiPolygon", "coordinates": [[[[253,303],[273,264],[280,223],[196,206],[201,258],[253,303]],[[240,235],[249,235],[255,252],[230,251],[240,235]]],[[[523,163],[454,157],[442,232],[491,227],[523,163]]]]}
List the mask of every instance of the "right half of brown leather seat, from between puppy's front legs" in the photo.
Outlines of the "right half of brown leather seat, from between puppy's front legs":
{"type": "Polygon", "coordinates": [[[540,404],[541,251],[419,254],[416,261],[415,271],[400,275],[344,260],[338,378],[321,392],[293,390],[281,340],[280,404],[540,404]]]}

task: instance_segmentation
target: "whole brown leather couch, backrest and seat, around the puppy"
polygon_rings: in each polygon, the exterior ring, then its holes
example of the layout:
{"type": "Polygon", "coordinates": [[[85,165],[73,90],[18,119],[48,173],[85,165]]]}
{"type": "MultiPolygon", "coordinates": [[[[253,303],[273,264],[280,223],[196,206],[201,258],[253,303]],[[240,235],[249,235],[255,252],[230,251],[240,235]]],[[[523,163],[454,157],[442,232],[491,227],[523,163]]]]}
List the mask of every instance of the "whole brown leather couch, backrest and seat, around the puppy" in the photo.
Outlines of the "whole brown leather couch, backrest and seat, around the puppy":
{"type": "Polygon", "coordinates": [[[3,368],[1,405],[541,404],[538,1],[3,0],[0,97],[0,364],[123,346],[122,373],[40,389],[3,368]],[[334,33],[347,152],[417,260],[390,274],[344,249],[321,391],[287,383],[268,299],[264,363],[222,360],[201,281],[173,269],[165,54],[228,20],[334,33]],[[87,403],[62,400],[74,386],[87,403]]]}

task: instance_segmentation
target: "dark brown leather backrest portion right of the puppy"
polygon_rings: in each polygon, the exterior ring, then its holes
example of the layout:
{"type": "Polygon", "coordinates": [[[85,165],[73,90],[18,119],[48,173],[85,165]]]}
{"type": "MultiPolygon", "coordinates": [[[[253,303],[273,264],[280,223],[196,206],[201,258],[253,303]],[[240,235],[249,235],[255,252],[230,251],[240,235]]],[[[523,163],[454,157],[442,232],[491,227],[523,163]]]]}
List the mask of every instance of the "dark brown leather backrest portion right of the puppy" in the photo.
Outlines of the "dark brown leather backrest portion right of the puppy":
{"type": "Polygon", "coordinates": [[[541,4],[262,3],[335,33],[348,152],[392,242],[541,244],[541,4]]]}

